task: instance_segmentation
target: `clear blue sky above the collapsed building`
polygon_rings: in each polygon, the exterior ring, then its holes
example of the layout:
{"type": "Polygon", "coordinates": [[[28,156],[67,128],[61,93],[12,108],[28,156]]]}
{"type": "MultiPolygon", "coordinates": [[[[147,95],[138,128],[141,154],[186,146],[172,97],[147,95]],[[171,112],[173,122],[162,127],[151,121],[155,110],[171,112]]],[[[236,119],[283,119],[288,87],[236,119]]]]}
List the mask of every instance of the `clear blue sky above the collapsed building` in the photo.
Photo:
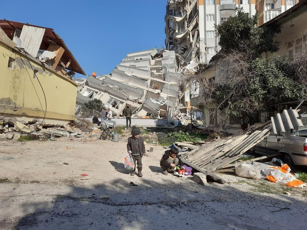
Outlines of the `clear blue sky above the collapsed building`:
{"type": "Polygon", "coordinates": [[[0,18],[53,28],[86,75],[93,71],[101,75],[111,73],[126,53],[165,46],[166,3],[167,0],[16,0],[12,6],[11,1],[2,1],[0,18]]]}

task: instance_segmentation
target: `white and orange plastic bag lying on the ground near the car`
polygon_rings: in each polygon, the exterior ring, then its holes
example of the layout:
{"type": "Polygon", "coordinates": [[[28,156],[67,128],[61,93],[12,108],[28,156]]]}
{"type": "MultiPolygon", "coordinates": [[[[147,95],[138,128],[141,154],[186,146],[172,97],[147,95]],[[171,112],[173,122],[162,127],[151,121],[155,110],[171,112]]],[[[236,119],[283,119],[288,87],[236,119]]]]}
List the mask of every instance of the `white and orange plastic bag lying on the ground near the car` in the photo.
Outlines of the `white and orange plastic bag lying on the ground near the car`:
{"type": "Polygon", "coordinates": [[[287,164],[282,164],[281,167],[269,166],[263,170],[266,174],[266,178],[280,185],[286,185],[291,188],[302,188],[307,187],[307,184],[295,178],[293,174],[290,173],[291,169],[287,164]]]}

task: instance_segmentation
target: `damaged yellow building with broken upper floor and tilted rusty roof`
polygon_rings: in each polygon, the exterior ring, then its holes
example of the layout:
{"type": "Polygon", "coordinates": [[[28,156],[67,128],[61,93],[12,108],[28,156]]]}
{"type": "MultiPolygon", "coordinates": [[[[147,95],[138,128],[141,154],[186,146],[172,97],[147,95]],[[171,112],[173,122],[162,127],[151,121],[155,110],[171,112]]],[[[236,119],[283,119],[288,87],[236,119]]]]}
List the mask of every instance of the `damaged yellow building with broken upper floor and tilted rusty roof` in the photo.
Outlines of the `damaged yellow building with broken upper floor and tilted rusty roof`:
{"type": "Polygon", "coordinates": [[[0,20],[0,118],[75,120],[74,72],[85,75],[53,29],[0,20]]]}

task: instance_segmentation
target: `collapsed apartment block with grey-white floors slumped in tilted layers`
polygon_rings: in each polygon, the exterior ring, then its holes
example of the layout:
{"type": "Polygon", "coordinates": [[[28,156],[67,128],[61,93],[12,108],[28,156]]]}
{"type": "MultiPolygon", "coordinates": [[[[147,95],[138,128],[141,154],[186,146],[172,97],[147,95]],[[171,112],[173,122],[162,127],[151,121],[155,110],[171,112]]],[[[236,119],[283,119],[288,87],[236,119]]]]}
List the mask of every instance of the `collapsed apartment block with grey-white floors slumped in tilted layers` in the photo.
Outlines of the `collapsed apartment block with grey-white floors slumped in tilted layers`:
{"type": "Polygon", "coordinates": [[[157,48],[128,53],[110,75],[79,83],[76,115],[84,103],[99,99],[114,116],[121,116],[128,105],[132,118],[168,118],[185,112],[185,97],[180,90],[181,67],[174,51],[157,48]],[[181,110],[181,111],[180,111],[181,110]]]}

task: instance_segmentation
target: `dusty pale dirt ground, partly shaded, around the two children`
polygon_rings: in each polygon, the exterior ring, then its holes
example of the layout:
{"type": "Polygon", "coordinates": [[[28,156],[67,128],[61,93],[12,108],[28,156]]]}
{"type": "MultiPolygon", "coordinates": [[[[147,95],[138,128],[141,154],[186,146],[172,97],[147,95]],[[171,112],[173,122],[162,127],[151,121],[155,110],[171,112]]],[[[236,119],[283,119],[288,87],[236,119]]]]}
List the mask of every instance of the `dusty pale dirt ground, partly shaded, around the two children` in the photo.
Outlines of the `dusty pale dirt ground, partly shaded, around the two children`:
{"type": "Polygon", "coordinates": [[[217,172],[229,183],[201,186],[161,174],[165,149],[150,146],[139,178],[124,168],[123,138],[0,141],[0,229],[305,229],[306,189],[231,170],[217,172]]]}

